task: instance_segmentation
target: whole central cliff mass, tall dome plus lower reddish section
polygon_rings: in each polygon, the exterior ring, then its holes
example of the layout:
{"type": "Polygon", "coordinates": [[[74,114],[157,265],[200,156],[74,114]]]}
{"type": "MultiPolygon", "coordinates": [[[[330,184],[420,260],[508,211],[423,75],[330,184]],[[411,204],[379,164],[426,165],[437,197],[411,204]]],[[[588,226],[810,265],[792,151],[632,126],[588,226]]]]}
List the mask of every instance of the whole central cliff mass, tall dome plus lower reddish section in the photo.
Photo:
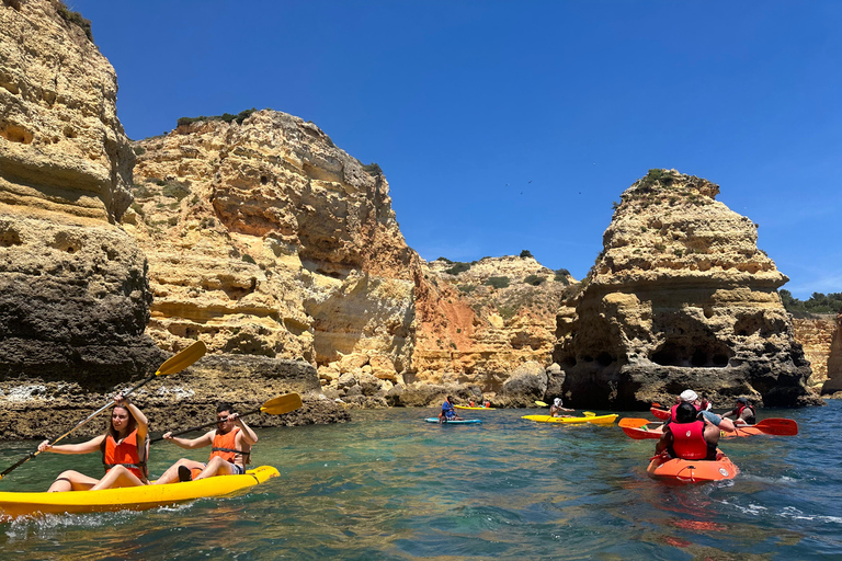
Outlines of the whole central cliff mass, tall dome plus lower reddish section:
{"type": "Polygon", "coordinates": [[[214,352],[306,360],[327,397],[367,407],[399,402],[396,387],[493,396],[519,364],[549,364],[569,274],[531,255],[458,272],[425,263],[379,168],[298,117],[186,121],[136,144],[124,217],[149,259],[162,348],[200,337],[214,352]],[[489,283],[501,277],[508,287],[489,283]]]}

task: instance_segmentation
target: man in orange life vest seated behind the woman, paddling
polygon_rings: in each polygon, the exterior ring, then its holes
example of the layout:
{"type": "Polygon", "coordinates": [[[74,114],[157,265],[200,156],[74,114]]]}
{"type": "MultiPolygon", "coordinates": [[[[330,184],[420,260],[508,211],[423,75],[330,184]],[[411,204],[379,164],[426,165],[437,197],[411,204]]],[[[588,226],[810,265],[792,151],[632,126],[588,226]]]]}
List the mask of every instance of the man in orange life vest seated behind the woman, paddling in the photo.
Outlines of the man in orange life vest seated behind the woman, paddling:
{"type": "Polygon", "coordinates": [[[220,403],[216,408],[216,428],[208,431],[198,438],[178,438],[172,436],[172,433],[163,435],[164,439],[175,443],[186,450],[212,446],[210,459],[207,463],[202,463],[189,458],[181,458],[170,466],[155,484],[246,473],[251,447],[258,442],[258,435],[240,419],[229,403],[220,403]]]}

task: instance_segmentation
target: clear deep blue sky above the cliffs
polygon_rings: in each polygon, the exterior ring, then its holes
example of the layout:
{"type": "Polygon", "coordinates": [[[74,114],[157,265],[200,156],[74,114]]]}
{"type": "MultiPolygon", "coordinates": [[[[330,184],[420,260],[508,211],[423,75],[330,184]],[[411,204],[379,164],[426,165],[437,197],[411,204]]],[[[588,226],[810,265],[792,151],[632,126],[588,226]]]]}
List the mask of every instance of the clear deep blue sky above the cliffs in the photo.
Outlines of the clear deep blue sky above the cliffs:
{"type": "Polygon", "coordinates": [[[67,0],[128,136],[273,108],[391,186],[421,256],[582,278],[651,168],[720,185],[806,299],[842,290],[842,2],[67,0]]]}

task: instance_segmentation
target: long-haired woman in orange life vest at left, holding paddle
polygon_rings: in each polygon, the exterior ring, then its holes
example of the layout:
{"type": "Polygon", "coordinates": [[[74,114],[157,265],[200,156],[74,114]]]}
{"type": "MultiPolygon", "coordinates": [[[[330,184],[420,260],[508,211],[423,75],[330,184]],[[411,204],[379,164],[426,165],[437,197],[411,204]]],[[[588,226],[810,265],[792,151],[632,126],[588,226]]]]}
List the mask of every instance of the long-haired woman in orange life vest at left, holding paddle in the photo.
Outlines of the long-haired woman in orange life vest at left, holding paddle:
{"type": "Polygon", "coordinates": [[[44,440],[38,451],[55,454],[90,454],[102,451],[105,477],[94,479],[73,470],[59,473],[49,485],[49,492],[88,491],[121,486],[137,486],[149,483],[146,462],[149,457],[148,421],[137,405],[122,394],[114,397],[111,423],[105,434],[80,444],[49,444],[44,440]],[[138,446],[138,443],[143,443],[138,446]]]}

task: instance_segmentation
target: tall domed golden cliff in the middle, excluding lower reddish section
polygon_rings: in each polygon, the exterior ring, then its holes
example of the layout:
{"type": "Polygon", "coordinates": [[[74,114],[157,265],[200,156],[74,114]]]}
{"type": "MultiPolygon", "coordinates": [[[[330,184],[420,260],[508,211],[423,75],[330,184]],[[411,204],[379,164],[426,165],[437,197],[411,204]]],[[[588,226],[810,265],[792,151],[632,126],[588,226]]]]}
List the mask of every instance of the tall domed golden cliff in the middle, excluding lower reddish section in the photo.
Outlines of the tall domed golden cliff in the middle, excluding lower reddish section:
{"type": "Polygon", "coordinates": [[[161,347],[198,336],[212,352],[409,367],[419,261],[377,169],[274,111],[183,125],[137,151],[124,224],[150,262],[161,347]]]}

